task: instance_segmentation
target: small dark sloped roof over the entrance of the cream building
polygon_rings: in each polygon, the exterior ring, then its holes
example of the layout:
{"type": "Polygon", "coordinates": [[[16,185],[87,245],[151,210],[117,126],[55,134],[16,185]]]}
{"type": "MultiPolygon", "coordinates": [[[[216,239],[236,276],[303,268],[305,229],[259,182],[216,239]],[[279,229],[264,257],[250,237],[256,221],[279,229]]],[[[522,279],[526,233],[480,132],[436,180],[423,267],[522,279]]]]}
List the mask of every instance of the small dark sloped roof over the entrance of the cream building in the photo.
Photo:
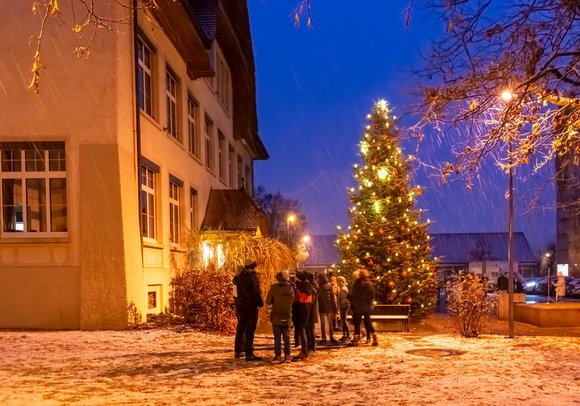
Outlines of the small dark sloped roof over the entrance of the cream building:
{"type": "Polygon", "coordinates": [[[212,189],[201,229],[267,233],[266,215],[243,189],[212,189]]]}

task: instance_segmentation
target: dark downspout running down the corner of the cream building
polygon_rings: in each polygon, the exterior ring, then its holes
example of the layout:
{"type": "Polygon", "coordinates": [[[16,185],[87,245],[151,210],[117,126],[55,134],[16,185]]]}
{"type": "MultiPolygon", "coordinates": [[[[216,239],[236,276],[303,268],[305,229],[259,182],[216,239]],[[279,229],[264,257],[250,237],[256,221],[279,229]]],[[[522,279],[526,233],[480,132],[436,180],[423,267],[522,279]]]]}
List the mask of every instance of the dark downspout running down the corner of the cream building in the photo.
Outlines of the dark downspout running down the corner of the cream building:
{"type": "Polygon", "coordinates": [[[141,113],[139,111],[139,101],[137,100],[137,88],[139,86],[139,51],[137,47],[137,38],[139,36],[137,24],[137,6],[138,0],[133,0],[133,101],[135,108],[135,150],[137,155],[137,205],[138,205],[138,222],[139,222],[139,245],[141,247],[141,264],[143,265],[143,225],[141,224],[141,113]]]}

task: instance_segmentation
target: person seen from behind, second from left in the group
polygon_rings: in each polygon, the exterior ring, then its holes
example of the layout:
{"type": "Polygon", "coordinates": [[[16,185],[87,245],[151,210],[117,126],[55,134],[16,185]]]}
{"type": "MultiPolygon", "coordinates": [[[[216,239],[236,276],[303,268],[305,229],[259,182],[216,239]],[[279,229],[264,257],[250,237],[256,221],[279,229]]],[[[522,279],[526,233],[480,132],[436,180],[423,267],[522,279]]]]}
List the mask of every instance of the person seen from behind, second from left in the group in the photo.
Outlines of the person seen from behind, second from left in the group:
{"type": "Polygon", "coordinates": [[[290,362],[290,321],[292,318],[292,303],[294,291],[289,282],[288,271],[278,272],[276,280],[266,296],[266,304],[272,306],[270,320],[274,334],[274,360],[282,360],[280,337],[284,339],[284,362],[290,362]]]}

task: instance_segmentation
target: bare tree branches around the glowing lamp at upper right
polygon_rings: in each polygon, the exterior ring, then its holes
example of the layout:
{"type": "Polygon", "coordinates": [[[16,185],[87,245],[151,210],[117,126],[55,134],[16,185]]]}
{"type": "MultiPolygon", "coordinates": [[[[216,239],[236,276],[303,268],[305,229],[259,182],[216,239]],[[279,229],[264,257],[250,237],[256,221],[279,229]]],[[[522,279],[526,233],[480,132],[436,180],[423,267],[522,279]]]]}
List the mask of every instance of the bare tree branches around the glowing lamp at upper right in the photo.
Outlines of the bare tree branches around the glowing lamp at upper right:
{"type": "MultiPolygon", "coordinates": [[[[460,132],[443,181],[492,157],[504,170],[538,170],[580,157],[580,2],[424,0],[445,22],[418,73],[422,120],[415,130],[460,132]]],[[[578,162],[576,162],[578,163],[578,162]]]]}

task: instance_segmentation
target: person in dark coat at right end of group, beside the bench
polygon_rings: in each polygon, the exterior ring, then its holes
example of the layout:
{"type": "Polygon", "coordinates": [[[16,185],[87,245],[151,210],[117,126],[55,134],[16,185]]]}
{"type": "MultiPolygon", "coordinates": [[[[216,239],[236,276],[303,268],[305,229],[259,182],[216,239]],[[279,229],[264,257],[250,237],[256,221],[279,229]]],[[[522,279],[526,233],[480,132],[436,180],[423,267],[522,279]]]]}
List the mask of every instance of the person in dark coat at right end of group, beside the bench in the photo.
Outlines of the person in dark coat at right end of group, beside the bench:
{"type": "Polygon", "coordinates": [[[361,269],[359,271],[359,277],[354,282],[352,290],[350,292],[350,300],[353,309],[353,322],[354,322],[354,338],[352,341],[353,345],[358,345],[360,341],[360,323],[361,319],[364,318],[365,329],[367,334],[370,332],[373,337],[373,345],[378,345],[377,333],[371,322],[371,312],[374,308],[375,292],[373,287],[373,282],[371,281],[370,274],[366,269],[361,269]]]}

